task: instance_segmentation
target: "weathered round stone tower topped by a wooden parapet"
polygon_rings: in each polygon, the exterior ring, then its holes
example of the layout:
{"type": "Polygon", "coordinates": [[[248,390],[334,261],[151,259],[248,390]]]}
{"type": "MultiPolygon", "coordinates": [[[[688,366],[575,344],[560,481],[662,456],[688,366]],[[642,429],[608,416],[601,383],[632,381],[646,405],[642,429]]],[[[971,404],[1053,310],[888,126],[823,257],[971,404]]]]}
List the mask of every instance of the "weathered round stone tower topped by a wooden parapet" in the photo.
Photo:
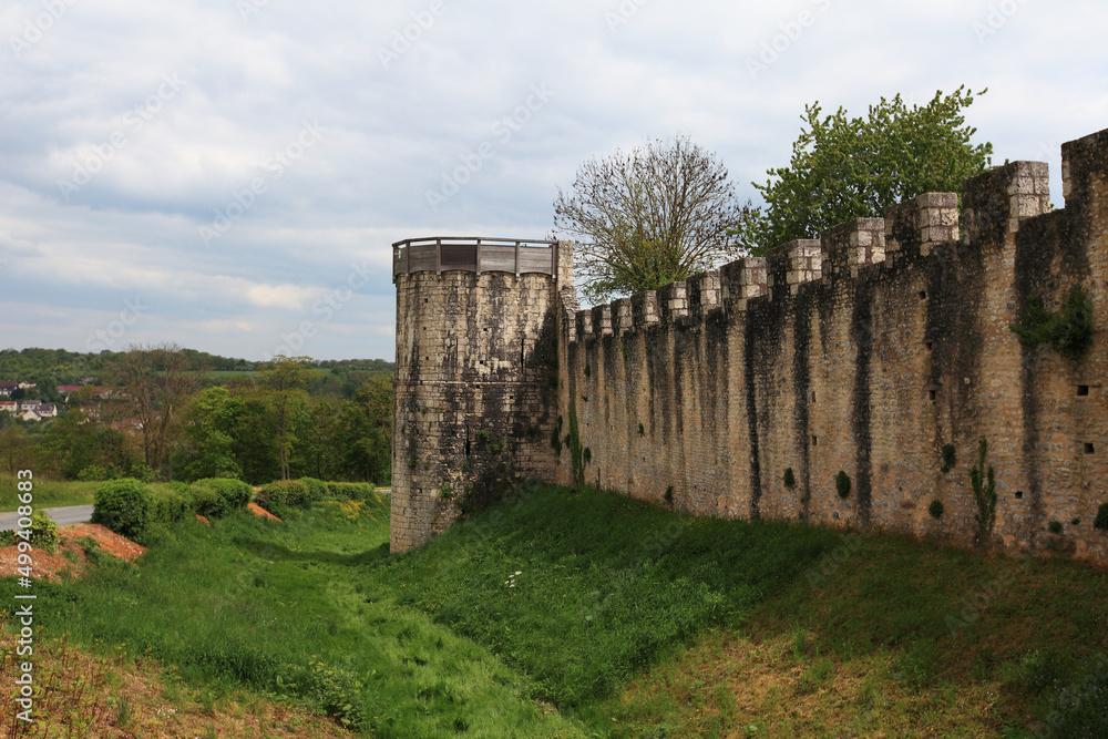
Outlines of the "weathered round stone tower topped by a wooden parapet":
{"type": "Polygon", "coordinates": [[[392,245],[397,286],[390,550],[517,481],[552,480],[555,304],[566,243],[437,237],[392,245]]]}

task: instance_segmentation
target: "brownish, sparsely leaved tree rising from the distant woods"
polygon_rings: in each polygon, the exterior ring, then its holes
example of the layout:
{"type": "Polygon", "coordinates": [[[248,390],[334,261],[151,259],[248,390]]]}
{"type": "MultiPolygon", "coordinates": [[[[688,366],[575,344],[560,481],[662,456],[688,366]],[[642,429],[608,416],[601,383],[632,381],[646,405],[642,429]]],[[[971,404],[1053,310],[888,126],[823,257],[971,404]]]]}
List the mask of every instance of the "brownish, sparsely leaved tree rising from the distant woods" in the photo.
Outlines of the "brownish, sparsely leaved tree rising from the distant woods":
{"type": "Polygon", "coordinates": [[[138,428],[143,455],[152,470],[168,451],[176,412],[195,387],[192,361],[176,343],[132,345],[112,368],[117,402],[138,428]]]}

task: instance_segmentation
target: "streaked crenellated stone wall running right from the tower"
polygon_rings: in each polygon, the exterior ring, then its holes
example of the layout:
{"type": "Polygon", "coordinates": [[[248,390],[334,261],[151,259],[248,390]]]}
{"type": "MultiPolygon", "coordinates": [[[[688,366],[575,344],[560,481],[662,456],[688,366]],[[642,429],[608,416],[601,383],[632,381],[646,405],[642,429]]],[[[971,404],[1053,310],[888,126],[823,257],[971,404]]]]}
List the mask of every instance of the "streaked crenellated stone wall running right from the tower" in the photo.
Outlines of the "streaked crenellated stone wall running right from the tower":
{"type": "Polygon", "coordinates": [[[965,183],[961,238],[957,196],[930,193],[611,305],[578,311],[563,289],[558,413],[578,421],[586,480],[698,515],[971,544],[985,437],[997,541],[1108,561],[1092,527],[1108,502],[1108,132],[1063,157],[1065,209],[1045,164],[1015,162],[965,183]],[[1076,286],[1091,349],[1022,347],[1009,326],[1027,299],[1057,310],[1076,286]]]}

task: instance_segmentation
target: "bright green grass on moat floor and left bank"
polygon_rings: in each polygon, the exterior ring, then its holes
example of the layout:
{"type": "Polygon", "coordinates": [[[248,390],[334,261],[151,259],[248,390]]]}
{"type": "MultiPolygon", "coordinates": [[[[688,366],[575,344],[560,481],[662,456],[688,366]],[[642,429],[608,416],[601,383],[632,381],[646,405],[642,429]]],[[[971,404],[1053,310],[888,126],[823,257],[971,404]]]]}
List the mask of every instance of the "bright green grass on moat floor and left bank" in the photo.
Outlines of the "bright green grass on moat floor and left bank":
{"type": "MultiPolygon", "coordinates": [[[[285,524],[237,513],[162,531],[132,566],[37,586],[37,627],[126,645],[207,690],[307,701],[367,736],[581,736],[488,649],[362,576],[388,550],[388,497],[317,503],[285,524]]],[[[11,578],[0,598],[13,602],[11,578]]]]}

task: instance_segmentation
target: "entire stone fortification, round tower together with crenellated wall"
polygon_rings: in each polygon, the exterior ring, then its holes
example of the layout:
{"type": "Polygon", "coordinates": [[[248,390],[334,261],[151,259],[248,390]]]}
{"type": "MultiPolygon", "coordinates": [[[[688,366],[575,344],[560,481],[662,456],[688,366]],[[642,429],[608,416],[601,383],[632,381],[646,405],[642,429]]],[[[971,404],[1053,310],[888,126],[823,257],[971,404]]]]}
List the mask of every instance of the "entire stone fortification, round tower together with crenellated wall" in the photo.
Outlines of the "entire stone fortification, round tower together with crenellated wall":
{"type": "Polygon", "coordinates": [[[1053,209],[1047,166],[1013,162],[585,309],[572,244],[398,242],[393,547],[462,491],[582,474],[698,515],[971,544],[984,438],[989,542],[1108,563],[1108,130],[1063,145],[1063,185],[1053,209]],[[1077,288],[1090,348],[1022,346],[1032,299],[1077,288]],[[555,443],[566,420],[588,453],[555,443]]]}

